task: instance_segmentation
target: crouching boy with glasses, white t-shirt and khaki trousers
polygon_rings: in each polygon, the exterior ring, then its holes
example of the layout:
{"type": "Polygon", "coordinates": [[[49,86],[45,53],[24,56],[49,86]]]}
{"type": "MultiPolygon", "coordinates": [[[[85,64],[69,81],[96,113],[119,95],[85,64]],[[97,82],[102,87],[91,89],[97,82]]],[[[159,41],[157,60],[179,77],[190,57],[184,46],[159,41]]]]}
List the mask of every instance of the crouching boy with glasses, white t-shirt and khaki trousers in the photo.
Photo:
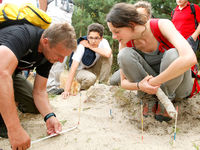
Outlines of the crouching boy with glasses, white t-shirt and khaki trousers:
{"type": "Polygon", "coordinates": [[[100,83],[108,81],[112,65],[112,50],[108,41],[103,38],[103,31],[103,25],[93,23],[88,26],[87,37],[81,37],[82,40],[71,56],[71,68],[65,91],[62,93],[63,98],[72,94],[70,90],[74,77],[80,83],[81,90],[94,85],[97,78],[100,83]],[[91,53],[94,55],[89,57],[91,53]]]}

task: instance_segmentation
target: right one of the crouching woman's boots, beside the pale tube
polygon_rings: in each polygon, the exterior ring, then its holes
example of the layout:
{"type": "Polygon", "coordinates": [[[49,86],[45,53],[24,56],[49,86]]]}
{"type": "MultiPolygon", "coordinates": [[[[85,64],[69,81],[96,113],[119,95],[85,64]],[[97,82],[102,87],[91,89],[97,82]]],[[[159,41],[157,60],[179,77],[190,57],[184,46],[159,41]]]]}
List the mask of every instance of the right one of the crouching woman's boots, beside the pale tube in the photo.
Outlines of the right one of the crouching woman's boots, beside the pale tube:
{"type": "Polygon", "coordinates": [[[158,105],[157,105],[155,119],[160,121],[160,122],[162,122],[162,121],[168,122],[172,119],[168,115],[165,107],[160,102],[158,102],[158,105]]]}

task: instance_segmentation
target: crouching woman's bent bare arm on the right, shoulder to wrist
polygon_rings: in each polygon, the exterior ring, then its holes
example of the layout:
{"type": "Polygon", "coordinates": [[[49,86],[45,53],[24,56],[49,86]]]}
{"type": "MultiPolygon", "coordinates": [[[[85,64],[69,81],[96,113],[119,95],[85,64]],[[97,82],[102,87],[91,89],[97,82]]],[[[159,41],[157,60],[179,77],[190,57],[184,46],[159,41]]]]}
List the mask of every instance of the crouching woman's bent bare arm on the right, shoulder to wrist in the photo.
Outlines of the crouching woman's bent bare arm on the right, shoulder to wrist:
{"type": "Polygon", "coordinates": [[[179,57],[174,60],[166,70],[158,76],[150,79],[149,83],[151,85],[160,85],[169,81],[183,74],[197,63],[196,55],[194,54],[191,46],[176,30],[171,21],[167,19],[160,19],[158,25],[164,37],[177,49],[179,57]]]}

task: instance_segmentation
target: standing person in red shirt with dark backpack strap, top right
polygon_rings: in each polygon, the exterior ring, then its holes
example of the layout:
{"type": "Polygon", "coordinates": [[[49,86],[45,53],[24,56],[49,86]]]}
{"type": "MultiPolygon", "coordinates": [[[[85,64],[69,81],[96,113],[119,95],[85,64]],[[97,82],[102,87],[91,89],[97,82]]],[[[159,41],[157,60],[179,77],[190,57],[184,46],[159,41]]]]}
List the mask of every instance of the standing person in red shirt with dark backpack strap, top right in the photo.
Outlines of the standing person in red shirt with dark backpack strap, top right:
{"type": "Polygon", "coordinates": [[[195,28],[195,16],[192,13],[190,2],[188,0],[176,0],[177,7],[172,12],[172,22],[181,35],[187,39],[196,53],[198,48],[200,34],[200,7],[194,4],[196,20],[198,22],[195,28]]]}

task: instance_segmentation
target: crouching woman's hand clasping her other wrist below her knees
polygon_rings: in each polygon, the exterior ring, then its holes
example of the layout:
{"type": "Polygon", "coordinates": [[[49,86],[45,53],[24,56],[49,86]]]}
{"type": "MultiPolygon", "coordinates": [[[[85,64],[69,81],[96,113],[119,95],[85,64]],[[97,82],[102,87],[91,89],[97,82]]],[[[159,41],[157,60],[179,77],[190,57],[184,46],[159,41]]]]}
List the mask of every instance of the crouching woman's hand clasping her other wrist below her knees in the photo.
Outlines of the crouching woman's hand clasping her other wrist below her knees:
{"type": "Polygon", "coordinates": [[[153,86],[149,83],[149,80],[152,79],[153,76],[146,76],[142,81],[139,82],[138,86],[141,91],[148,94],[156,94],[160,85],[153,86]]]}

